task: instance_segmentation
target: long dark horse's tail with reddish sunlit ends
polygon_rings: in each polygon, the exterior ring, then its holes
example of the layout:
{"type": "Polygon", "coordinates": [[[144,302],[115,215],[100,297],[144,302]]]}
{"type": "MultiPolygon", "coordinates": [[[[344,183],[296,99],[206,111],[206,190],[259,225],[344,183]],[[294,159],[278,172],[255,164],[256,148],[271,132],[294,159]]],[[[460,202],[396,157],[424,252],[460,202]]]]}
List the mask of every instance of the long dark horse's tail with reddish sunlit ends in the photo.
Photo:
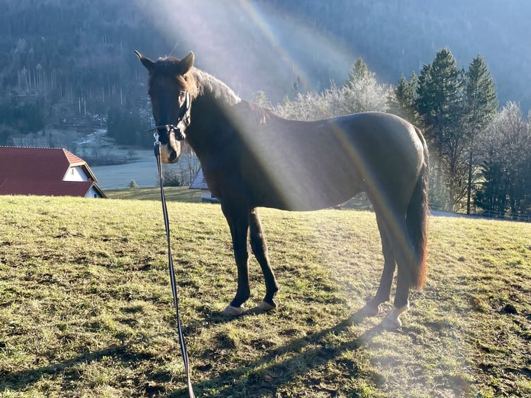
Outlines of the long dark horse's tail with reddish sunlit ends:
{"type": "Polygon", "coordinates": [[[428,241],[428,147],[421,131],[415,127],[422,142],[424,163],[406,214],[411,243],[415,249],[415,266],[411,268],[411,287],[421,289],[426,283],[426,244],[428,241]]]}

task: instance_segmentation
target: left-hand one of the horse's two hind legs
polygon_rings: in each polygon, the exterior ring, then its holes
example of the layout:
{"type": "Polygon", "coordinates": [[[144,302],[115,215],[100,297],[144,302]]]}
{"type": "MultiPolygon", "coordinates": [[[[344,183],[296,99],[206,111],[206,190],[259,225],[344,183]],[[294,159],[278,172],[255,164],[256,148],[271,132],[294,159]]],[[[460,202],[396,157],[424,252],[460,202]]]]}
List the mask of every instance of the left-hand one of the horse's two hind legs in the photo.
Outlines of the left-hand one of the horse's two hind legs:
{"type": "Polygon", "coordinates": [[[387,232],[385,231],[383,220],[378,213],[376,213],[376,223],[378,223],[378,230],[380,231],[380,237],[382,241],[383,272],[376,296],[374,296],[374,298],[367,302],[367,304],[365,304],[363,307],[362,311],[367,316],[378,314],[380,304],[390,300],[394,268],[396,267],[392,244],[389,240],[387,232]]]}

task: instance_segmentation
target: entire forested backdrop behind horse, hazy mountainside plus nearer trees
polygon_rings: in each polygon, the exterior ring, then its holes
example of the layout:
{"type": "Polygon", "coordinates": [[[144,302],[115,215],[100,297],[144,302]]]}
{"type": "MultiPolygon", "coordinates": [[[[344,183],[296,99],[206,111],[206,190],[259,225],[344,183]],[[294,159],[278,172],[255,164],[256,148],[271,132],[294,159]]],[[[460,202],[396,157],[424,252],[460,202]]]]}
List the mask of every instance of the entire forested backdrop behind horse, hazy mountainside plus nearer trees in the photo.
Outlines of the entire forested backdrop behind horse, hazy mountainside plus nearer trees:
{"type": "Polygon", "coordinates": [[[133,51],[193,49],[198,67],[284,116],[382,110],[417,124],[439,209],[531,212],[527,1],[4,0],[0,11],[0,145],[76,151],[105,130],[148,146],[133,51]]]}

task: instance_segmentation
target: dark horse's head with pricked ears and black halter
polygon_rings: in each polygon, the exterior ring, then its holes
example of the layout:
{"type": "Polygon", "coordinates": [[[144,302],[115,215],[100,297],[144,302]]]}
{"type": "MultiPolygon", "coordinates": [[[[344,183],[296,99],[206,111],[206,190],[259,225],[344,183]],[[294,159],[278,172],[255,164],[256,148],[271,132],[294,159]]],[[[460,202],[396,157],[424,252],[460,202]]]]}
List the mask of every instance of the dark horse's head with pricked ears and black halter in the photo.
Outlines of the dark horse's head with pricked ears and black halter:
{"type": "Polygon", "coordinates": [[[190,124],[192,102],[191,86],[187,73],[193,67],[192,52],[186,58],[163,58],[157,62],[134,51],[143,66],[148,69],[148,95],[153,108],[161,143],[161,159],[164,163],[179,160],[181,143],[190,124]]]}

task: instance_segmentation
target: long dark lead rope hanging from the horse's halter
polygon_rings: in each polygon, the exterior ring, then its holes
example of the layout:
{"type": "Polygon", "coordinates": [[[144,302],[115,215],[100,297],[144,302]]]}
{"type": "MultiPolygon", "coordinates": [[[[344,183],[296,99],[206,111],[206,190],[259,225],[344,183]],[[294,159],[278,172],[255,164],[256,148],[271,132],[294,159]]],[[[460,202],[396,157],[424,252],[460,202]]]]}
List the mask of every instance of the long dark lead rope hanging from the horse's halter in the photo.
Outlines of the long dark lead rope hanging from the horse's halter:
{"type": "Polygon", "coordinates": [[[175,314],[177,315],[177,334],[179,335],[179,345],[181,346],[182,361],[184,362],[184,370],[186,370],[186,384],[188,386],[188,395],[190,398],[195,398],[193,394],[192,382],[190,379],[190,369],[188,365],[188,354],[186,353],[186,344],[184,343],[184,334],[182,333],[181,320],[179,317],[179,300],[177,299],[177,284],[175,283],[175,272],[173,270],[173,258],[171,256],[170,244],[170,221],[168,218],[168,209],[166,207],[166,198],[164,197],[164,189],[162,188],[162,162],[160,160],[160,141],[157,132],[153,135],[155,137],[155,157],[157,158],[157,169],[159,171],[160,182],[160,199],[162,201],[162,214],[164,215],[164,226],[166,227],[166,240],[168,241],[168,266],[170,268],[170,282],[171,293],[173,293],[173,305],[175,306],[175,314]]]}

